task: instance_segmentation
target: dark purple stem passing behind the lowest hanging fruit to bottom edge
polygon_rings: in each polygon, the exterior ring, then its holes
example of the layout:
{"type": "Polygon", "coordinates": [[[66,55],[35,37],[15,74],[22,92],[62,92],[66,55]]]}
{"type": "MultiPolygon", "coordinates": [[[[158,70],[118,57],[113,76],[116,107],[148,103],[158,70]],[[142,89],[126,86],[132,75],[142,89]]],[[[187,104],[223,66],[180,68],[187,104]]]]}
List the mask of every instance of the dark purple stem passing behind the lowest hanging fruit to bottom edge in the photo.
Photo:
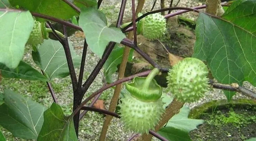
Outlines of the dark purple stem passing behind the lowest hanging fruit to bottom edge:
{"type": "MultiPolygon", "coordinates": [[[[107,111],[107,110],[98,109],[98,108],[83,106],[83,107],[81,107],[81,110],[94,111],[94,112],[99,112],[99,113],[102,113],[102,114],[110,115],[110,116],[113,116],[113,117],[116,117],[116,118],[121,118],[119,114],[116,114],[114,112],[110,112],[110,111],[107,111]]],[[[161,141],[168,141],[167,139],[165,139],[161,135],[157,134],[153,130],[149,130],[149,133],[151,135],[155,136],[156,138],[158,138],[161,141]]]]}

